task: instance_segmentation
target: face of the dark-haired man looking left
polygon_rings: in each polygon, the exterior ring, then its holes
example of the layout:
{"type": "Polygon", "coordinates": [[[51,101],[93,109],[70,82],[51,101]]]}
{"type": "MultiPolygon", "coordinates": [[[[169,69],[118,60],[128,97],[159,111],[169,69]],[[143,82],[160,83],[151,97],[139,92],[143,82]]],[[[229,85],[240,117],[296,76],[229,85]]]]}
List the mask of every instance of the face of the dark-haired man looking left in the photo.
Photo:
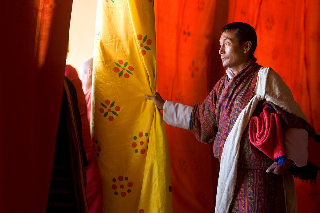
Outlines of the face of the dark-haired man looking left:
{"type": "Polygon", "coordinates": [[[233,72],[235,70],[240,71],[247,60],[244,53],[245,42],[240,45],[234,34],[235,30],[224,32],[221,34],[219,41],[222,66],[229,67],[233,72]],[[240,70],[238,70],[239,68],[240,70]]]}

